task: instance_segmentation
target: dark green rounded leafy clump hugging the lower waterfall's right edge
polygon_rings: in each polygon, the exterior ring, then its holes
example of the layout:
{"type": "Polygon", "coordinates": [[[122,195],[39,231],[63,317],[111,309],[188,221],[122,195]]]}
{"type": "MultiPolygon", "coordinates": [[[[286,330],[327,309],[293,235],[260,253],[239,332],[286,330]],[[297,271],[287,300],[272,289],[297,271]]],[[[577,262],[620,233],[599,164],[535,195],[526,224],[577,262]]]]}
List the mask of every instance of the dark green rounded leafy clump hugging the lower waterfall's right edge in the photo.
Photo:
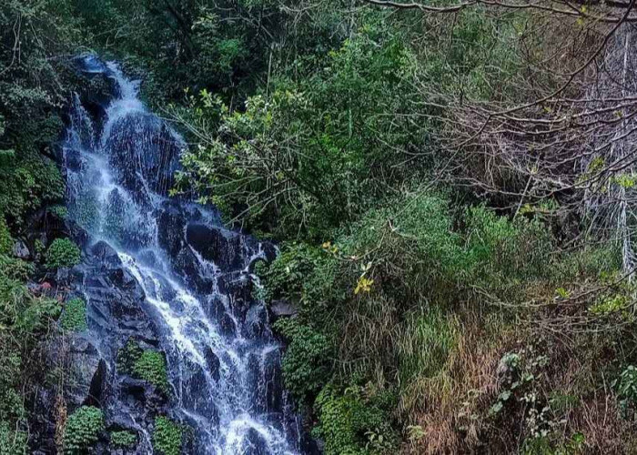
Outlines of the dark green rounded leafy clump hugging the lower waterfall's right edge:
{"type": "Polygon", "coordinates": [[[328,339],[297,319],[279,319],[274,329],[288,339],[282,365],[286,388],[299,401],[314,397],[329,380],[328,339]]]}

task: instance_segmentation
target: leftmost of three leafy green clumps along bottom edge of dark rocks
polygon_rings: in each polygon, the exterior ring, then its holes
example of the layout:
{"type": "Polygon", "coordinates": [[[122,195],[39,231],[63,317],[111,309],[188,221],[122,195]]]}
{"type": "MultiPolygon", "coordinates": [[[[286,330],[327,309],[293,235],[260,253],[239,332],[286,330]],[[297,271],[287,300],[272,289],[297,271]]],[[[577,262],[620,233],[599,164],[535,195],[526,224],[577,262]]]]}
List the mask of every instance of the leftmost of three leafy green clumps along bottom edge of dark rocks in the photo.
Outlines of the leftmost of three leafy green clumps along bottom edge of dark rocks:
{"type": "Polygon", "coordinates": [[[78,408],[66,420],[64,452],[71,455],[88,453],[104,430],[102,410],[92,406],[78,408]]]}

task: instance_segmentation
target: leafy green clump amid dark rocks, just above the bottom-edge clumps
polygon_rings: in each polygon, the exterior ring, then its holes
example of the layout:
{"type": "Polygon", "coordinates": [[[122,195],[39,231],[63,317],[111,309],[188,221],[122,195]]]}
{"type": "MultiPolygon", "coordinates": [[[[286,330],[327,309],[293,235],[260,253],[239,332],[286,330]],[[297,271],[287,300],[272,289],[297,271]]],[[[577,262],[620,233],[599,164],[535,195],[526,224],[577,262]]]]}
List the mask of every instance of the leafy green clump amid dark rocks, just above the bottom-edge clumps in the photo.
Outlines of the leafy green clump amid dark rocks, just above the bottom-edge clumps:
{"type": "Polygon", "coordinates": [[[168,392],[166,357],[162,352],[142,349],[134,339],[117,353],[117,369],[137,379],[147,380],[164,393],[168,392]]]}

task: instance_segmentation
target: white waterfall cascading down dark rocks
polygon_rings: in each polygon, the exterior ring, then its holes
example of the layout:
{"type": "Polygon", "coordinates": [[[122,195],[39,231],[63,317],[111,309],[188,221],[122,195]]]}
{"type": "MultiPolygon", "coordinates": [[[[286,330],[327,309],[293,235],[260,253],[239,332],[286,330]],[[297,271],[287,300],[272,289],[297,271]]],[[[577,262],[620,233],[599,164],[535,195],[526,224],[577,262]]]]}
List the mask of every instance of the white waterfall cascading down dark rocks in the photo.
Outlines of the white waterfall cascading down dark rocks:
{"type": "MultiPolygon", "coordinates": [[[[251,296],[258,286],[251,267],[271,258],[272,247],[226,229],[212,208],[168,197],[183,140],[147,111],[139,83],[116,64],[86,57],[83,69],[110,78],[116,96],[101,120],[75,99],[64,147],[69,217],[88,234],[85,250],[112,248],[112,260],[143,290],[143,312],[167,356],[167,412],[194,429],[193,453],[298,453],[280,347],[266,308],[251,296]]],[[[101,406],[107,423],[140,435],[136,453],[151,453],[152,416],[126,395],[130,380],[114,360],[122,333],[144,337],[123,316],[113,335],[108,302],[116,297],[96,290],[99,270],[86,271],[77,289],[87,301],[88,337],[107,359],[101,406]]]]}

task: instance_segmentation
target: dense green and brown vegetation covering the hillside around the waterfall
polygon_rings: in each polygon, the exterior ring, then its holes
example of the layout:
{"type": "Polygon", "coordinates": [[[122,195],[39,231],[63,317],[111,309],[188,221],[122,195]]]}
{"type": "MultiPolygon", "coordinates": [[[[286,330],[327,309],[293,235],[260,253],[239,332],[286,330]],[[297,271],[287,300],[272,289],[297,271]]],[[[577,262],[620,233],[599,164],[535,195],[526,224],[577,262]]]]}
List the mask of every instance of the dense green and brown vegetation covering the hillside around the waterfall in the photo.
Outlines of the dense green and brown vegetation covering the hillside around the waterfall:
{"type": "MultiPolygon", "coordinates": [[[[257,273],[298,309],[274,329],[326,454],[637,450],[632,3],[406,5],[0,5],[0,453],[25,452],[27,353],[60,313],[86,328],[26,283],[80,260],[34,219],[66,215],[53,146],[87,50],[192,144],[173,192],[278,242],[257,273]]],[[[120,360],[167,392],[161,353],[120,360]]],[[[157,418],[159,452],[182,438],[157,418]]]]}

